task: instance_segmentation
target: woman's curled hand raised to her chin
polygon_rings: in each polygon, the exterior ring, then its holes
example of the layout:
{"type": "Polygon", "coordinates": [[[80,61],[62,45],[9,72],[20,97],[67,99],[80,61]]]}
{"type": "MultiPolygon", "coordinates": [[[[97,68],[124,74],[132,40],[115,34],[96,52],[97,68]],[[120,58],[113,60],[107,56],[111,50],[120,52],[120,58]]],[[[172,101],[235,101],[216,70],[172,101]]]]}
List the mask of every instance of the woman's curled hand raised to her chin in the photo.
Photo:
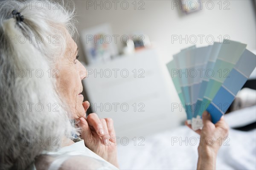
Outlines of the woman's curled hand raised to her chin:
{"type": "MultiPolygon", "coordinates": [[[[83,102],[85,111],[89,105],[89,102],[83,102]]],[[[118,167],[113,120],[99,119],[96,113],[90,113],[87,118],[79,118],[78,125],[81,128],[81,138],[84,139],[85,146],[118,167]]]]}

